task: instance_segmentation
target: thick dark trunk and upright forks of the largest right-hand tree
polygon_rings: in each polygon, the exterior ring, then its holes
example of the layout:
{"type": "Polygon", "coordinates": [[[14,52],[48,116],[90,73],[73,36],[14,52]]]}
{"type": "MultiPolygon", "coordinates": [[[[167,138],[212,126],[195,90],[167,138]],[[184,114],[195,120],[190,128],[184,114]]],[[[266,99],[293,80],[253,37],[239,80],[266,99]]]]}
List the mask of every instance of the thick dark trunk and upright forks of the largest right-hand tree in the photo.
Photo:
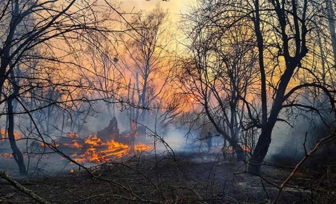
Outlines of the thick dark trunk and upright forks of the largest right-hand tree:
{"type": "Polygon", "coordinates": [[[282,48],[282,53],[286,62],[286,69],[281,75],[281,78],[279,80],[279,83],[277,85],[277,90],[275,94],[275,98],[272,104],[272,108],[270,111],[270,114],[268,116],[267,112],[267,100],[266,100],[266,89],[265,89],[265,67],[264,67],[264,46],[263,46],[263,36],[262,31],[260,27],[260,13],[259,13],[259,0],[255,1],[255,30],[256,30],[256,36],[257,36],[257,42],[258,42],[258,51],[259,51],[259,65],[260,65],[260,72],[261,72],[261,82],[262,82],[262,89],[261,89],[261,96],[262,96],[262,130],[261,135],[258,139],[257,145],[255,147],[255,150],[253,152],[252,158],[249,161],[250,165],[248,166],[248,171],[253,173],[260,173],[260,167],[263,162],[263,160],[266,157],[269,145],[271,143],[271,134],[273,127],[275,125],[275,122],[277,120],[277,117],[279,115],[279,112],[283,108],[283,103],[285,101],[285,92],[288,87],[288,84],[290,83],[294,70],[296,67],[300,66],[301,60],[303,57],[306,56],[308,53],[308,49],[306,47],[306,41],[305,37],[307,34],[307,28],[305,25],[305,16],[306,16],[306,10],[307,5],[305,4],[302,8],[302,18],[300,21],[303,22],[301,25],[299,25],[299,18],[297,17],[297,2],[292,1],[292,16],[293,16],[293,22],[295,27],[295,55],[291,56],[291,49],[289,44],[289,36],[286,33],[288,28],[288,21],[287,18],[284,17],[287,15],[287,13],[281,8],[281,5],[279,3],[273,4],[277,20],[279,21],[281,35],[282,35],[282,41],[284,43],[282,48]],[[301,28],[300,28],[301,26],[301,28]],[[268,117],[267,117],[268,116],[268,117]]]}

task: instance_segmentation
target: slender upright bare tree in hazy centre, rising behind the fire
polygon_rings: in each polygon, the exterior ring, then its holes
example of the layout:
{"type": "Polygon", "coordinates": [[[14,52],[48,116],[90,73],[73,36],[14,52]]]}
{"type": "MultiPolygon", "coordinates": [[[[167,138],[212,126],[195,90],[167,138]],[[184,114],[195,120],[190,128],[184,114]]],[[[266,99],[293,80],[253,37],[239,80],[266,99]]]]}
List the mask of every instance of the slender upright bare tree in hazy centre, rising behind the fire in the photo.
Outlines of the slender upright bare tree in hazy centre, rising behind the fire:
{"type": "Polygon", "coordinates": [[[131,38],[123,39],[127,54],[124,63],[136,82],[135,104],[142,107],[136,112],[135,121],[146,125],[148,108],[171,78],[169,14],[158,6],[136,15],[131,27],[135,28],[131,38]]]}

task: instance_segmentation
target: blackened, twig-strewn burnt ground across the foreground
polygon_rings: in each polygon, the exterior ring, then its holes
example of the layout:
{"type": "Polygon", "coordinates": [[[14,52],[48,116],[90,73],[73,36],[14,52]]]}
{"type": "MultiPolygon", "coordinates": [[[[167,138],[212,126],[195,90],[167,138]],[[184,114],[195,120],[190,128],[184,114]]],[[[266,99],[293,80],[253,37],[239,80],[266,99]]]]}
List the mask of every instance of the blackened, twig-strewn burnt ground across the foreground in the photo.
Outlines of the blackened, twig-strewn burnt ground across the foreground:
{"type": "MultiPolygon", "coordinates": [[[[312,158],[278,203],[336,203],[335,164],[331,158],[312,158]]],[[[216,159],[214,153],[178,154],[175,158],[143,155],[90,168],[100,179],[92,179],[78,167],[73,173],[67,170],[16,179],[51,203],[268,203],[277,189],[267,182],[279,185],[290,172],[264,166],[263,178],[234,174],[245,170],[242,165],[216,159]]],[[[34,201],[0,180],[0,203],[34,201]]]]}

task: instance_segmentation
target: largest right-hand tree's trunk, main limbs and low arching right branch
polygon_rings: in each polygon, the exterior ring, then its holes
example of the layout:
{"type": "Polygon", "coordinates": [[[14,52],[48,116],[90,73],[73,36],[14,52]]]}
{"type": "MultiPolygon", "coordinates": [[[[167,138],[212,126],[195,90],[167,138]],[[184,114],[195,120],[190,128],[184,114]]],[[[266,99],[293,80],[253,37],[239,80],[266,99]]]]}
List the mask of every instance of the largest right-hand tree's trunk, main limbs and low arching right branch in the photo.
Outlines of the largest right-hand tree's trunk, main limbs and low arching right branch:
{"type": "MultiPolygon", "coordinates": [[[[253,8],[253,22],[255,25],[255,33],[258,42],[259,50],[259,68],[261,75],[261,103],[262,103],[262,119],[261,134],[259,136],[256,148],[251,158],[251,163],[248,167],[249,171],[259,173],[260,165],[264,160],[269,144],[271,142],[271,134],[273,127],[277,121],[284,121],[279,118],[279,113],[283,108],[291,107],[304,107],[307,109],[314,109],[310,106],[305,106],[300,103],[296,103],[294,98],[291,98],[297,91],[300,91],[304,87],[320,88],[329,94],[328,90],[317,83],[305,83],[297,85],[292,89],[289,89],[291,80],[294,78],[294,73],[299,71],[302,66],[302,61],[309,53],[309,33],[311,29],[311,21],[309,16],[314,16],[314,12],[320,8],[314,4],[310,5],[307,1],[292,1],[286,3],[285,1],[270,1],[270,3],[261,4],[258,0],[250,5],[253,8]],[[265,6],[270,7],[270,11],[264,12],[265,6]],[[314,9],[311,10],[310,7],[314,9]],[[276,66],[281,70],[277,74],[278,81],[273,84],[273,101],[271,105],[267,101],[267,88],[266,88],[266,67],[265,67],[265,24],[262,20],[265,20],[269,15],[274,14],[274,26],[271,30],[274,35],[278,36],[277,54],[273,53],[278,63],[276,66]],[[264,18],[264,19],[263,19],[264,18]],[[279,29],[275,29],[278,26],[279,29]],[[292,29],[289,29],[292,28],[292,29]],[[283,64],[281,64],[283,62],[283,64]],[[270,107],[268,107],[270,106],[270,107]],[[268,108],[270,108],[268,112],[268,108]]],[[[271,20],[271,19],[269,19],[271,20]]],[[[276,50],[275,49],[275,50],[276,50]]],[[[274,50],[274,51],[275,51],[274,50]]],[[[274,72],[273,72],[274,73],[274,72]]],[[[273,77],[273,76],[272,76],[273,77]]],[[[275,77],[272,78],[275,80],[275,77]]],[[[334,107],[334,98],[329,94],[329,99],[332,107],[334,107]]],[[[334,109],[334,108],[333,108],[334,109]]]]}

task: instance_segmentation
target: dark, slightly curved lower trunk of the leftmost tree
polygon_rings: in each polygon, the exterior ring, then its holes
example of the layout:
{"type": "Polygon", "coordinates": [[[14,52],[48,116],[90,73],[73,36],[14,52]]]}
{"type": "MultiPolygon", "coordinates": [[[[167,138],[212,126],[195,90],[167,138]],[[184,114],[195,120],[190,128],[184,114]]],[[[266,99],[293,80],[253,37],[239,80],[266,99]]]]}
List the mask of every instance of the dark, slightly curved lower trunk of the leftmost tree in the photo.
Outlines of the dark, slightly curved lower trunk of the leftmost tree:
{"type": "Polygon", "coordinates": [[[11,148],[13,150],[13,157],[17,165],[19,166],[20,175],[26,175],[26,169],[23,161],[23,155],[20,149],[16,145],[15,137],[14,137],[14,114],[13,114],[13,106],[12,106],[13,98],[7,100],[7,108],[8,108],[8,138],[11,144],[11,148]]]}

